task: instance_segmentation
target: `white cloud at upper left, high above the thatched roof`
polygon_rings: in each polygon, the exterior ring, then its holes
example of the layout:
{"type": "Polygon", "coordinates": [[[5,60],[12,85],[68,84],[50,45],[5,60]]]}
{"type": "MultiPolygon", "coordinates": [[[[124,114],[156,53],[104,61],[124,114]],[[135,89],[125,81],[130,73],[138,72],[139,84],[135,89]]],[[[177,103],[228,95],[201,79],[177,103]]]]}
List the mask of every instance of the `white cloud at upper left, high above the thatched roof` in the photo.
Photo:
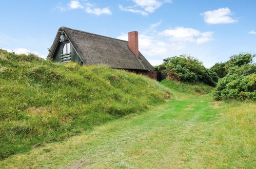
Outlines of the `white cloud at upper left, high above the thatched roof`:
{"type": "Polygon", "coordinates": [[[105,7],[105,8],[94,7],[94,5],[88,3],[87,0],[83,0],[83,3],[80,3],[80,1],[77,1],[77,0],[73,0],[67,4],[67,7],[58,5],[56,6],[56,9],[58,9],[61,12],[64,12],[67,9],[70,9],[70,10],[84,9],[86,13],[95,14],[97,16],[100,16],[102,14],[106,14],[106,15],[112,14],[111,10],[108,7],[105,7]]]}

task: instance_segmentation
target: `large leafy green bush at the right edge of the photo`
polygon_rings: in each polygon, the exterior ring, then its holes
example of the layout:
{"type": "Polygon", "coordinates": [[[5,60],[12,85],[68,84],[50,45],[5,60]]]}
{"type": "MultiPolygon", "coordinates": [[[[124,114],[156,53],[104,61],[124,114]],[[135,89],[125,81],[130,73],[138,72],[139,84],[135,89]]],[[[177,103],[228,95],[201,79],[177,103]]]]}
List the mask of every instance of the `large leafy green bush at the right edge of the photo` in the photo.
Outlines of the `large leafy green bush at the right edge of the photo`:
{"type": "Polygon", "coordinates": [[[214,90],[214,98],[256,100],[256,64],[255,55],[241,53],[232,55],[224,63],[215,64],[211,70],[222,77],[214,90]]]}

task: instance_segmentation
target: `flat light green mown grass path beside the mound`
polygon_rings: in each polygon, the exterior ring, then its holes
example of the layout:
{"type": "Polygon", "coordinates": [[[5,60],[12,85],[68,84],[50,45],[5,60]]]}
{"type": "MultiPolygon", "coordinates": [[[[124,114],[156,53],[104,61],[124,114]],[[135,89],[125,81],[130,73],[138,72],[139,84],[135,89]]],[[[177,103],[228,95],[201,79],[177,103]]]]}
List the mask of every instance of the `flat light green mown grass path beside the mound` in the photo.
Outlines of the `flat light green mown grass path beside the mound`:
{"type": "Polygon", "coordinates": [[[0,168],[253,168],[255,103],[212,102],[172,91],[131,114],[69,140],[0,161],[0,168]]]}

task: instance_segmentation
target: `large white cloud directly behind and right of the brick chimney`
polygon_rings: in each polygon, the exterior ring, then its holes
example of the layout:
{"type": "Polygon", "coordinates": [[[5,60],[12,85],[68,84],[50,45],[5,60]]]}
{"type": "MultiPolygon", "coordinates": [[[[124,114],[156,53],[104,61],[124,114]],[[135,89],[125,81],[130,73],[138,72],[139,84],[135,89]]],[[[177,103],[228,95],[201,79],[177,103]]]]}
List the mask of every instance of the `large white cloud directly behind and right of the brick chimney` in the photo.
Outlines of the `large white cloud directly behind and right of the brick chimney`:
{"type": "MultiPolygon", "coordinates": [[[[151,36],[146,34],[139,34],[139,48],[146,56],[163,56],[171,50],[186,48],[187,43],[203,44],[213,40],[213,32],[200,32],[183,27],[166,29],[160,33],[153,31],[151,36]]],[[[128,40],[128,34],[122,34],[116,38],[128,40]]]]}

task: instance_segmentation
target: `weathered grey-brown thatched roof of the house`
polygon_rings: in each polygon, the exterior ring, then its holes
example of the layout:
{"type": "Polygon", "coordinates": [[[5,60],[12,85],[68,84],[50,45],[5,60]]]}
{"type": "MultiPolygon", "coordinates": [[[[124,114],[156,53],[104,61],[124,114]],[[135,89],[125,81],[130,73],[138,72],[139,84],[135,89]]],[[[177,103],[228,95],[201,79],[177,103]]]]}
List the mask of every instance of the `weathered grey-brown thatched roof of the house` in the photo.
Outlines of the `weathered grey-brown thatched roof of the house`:
{"type": "Polygon", "coordinates": [[[80,30],[61,27],[53,42],[49,57],[52,57],[64,31],[85,65],[107,65],[111,68],[154,70],[139,52],[139,58],[128,48],[128,41],[96,35],[80,30]]]}

